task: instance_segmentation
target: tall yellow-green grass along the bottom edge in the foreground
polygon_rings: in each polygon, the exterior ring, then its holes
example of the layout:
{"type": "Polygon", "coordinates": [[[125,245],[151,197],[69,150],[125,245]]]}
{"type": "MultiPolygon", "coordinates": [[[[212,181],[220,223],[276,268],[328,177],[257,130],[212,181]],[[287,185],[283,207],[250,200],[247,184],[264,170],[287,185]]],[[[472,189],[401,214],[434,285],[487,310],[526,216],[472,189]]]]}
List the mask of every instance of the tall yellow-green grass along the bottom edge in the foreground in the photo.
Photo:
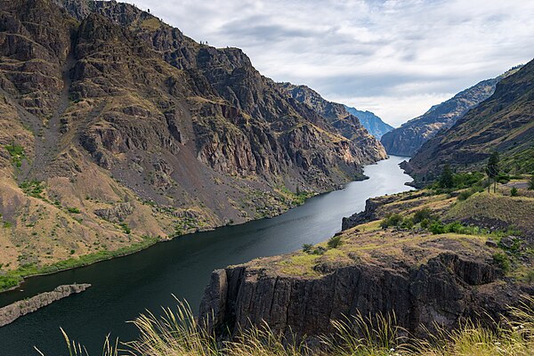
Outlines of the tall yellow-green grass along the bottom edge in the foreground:
{"type": "MultiPolygon", "coordinates": [[[[534,297],[524,296],[510,307],[510,317],[482,327],[472,321],[448,331],[437,331],[426,339],[410,338],[397,326],[394,315],[357,315],[333,321],[334,334],[321,336],[319,346],[276,334],[268,325],[250,328],[233,341],[217,341],[198,326],[190,306],[178,303],[177,311],[164,308],[162,316],[148,312],[133,321],[141,336],[130,343],[112,344],[109,336],[102,356],[529,356],[534,350],[534,297]]],[[[63,332],[63,330],[61,330],[63,332]]],[[[69,340],[69,356],[89,356],[85,348],[69,340]]],[[[316,343],[317,344],[317,343],[316,343]]],[[[37,350],[38,351],[38,350],[37,350]]],[[[44,354],[39,352],[42,356],[44,354]]]]}

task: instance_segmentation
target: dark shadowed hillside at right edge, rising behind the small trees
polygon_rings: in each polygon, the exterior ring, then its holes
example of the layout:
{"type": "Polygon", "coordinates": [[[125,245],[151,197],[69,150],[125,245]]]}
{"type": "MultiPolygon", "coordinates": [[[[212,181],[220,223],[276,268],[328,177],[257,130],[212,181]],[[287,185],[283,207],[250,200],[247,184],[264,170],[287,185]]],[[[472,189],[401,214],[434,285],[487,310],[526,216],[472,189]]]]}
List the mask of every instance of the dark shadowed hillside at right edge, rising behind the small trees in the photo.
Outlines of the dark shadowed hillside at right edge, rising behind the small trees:
{"type": "Polygon", "coordinates": [[[534,61],[504,77],[489,99],[426,142],[406,168],[417,181],[429,182],[445,164],[481,168],[494,150],[511,172],[534,170],[534,61]]]}

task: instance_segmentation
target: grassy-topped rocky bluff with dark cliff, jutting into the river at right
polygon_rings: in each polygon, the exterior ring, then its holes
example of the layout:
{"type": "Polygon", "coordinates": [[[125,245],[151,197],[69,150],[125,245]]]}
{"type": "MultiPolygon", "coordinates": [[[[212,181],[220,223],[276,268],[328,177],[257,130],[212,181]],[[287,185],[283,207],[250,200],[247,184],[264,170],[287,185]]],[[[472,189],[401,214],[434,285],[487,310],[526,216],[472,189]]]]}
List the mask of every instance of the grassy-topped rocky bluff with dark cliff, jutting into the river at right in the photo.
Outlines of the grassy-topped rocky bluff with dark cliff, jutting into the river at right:
{"type": "Polygon", "coordinates": [[[491,213],[473,209],[491,206],[484,200],[493,196],[481,193],[457,202],[446,194],[420,190],[373,198],[364,212],[344,221],[336,244],[214,271],[199,320],[219,334],[237,334],[239,328],[266,322],[287,337],[328,335],[335,331],[332,320],[359,313],[394,312],[399,326],[419,337],[433,332],[435,323],[448,329],[466,319],[491,323],[490,318],[498,320],[519,295],[534,294],[521,278],[522,268],[532,266],[531,223],[524,217],[509,220],[510,212],[530,214],[532,198],[516,201],[499,195],[501,204],[491,213]],[[423,208],[445,222],[460,217],[462,222],[485,220],[487,225],[480,226],[490,230],[500,220],[503,224],[497,226],[514,224],[524,235],[497,243],[488,234],[433,234],[418,225],[381,228],[376,221],[392,213],[409,218],[423,208]],[[488,214],[491,222],[482,217],[488,214]],[[512,245],[505,241],[515,241],[518,256],[513,263],[517,273],[507,271],[506,277],[493,257],[510,255],[512,245]]]}

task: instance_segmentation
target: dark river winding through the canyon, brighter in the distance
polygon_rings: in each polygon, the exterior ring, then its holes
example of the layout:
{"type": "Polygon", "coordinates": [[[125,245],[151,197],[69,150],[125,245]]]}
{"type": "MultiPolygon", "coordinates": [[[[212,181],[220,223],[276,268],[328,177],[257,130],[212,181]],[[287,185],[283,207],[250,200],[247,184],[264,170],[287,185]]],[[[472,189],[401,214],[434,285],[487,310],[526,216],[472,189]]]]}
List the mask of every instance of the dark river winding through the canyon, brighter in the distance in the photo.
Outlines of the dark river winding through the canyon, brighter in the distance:
{"type": "Polygon", "coordinates": [[[34,345],[46,356],[65,355],[60,327],[92,355],[101,354],[105,336],[133,339],[136,329],[126,321],[145,310],[157,313],[161,305],[173,306],[173,294],[196,312],[211,271],[328,239],[341,230],[342,217],[363,210],[367,198],[410,190],[405,183],[411,178],[398,166],[403,159],[366,166],[368,180],[310,198],[272,219],[198,232],[134,255],[30,278],[20,287],[23,291],[0,294],[0,306],[61,284],[93,287],[0,328],[0,356],[37,355],[34,345]]]}

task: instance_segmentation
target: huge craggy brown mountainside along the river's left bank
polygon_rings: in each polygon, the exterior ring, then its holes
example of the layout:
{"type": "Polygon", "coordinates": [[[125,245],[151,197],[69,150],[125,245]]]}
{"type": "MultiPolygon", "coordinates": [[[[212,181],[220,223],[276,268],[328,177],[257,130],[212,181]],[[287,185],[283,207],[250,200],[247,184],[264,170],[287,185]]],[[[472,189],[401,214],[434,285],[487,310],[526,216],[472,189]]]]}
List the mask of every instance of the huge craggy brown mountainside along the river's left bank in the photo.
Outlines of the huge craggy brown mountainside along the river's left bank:
{"type": "Polygon", "coordinates": [[[239,49],[198,44],[133,5],[0,6],[4,270],[279,214],[384,158],[365,130],[344,138],[239,49]]]}

